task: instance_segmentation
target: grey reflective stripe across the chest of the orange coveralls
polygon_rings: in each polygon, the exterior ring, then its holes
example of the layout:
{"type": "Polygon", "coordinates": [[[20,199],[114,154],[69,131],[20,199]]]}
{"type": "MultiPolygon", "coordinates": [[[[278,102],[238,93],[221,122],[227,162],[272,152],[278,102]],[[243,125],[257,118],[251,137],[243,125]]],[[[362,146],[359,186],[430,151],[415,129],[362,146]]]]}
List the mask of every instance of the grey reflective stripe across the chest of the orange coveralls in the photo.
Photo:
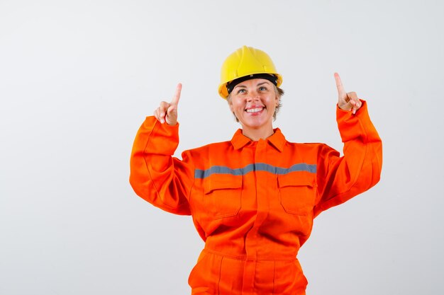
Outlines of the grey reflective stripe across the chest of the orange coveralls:
{"type": "Polygon", "coordinates": [[[207,178],[211,174],[231,174],[231,175],[245,175],[252,171],[267,171],[273,174],[287,174],[294,171],[307,171],[309,173],[316,173],[316,164],[299,163],[294,164],[289,168],[282,168],[272,166],[266,163],[253,163],[244,168],[228,168],[226,166],[211,166],[206,170],[196,169],[194,171],[195,178],[207,178]]]}

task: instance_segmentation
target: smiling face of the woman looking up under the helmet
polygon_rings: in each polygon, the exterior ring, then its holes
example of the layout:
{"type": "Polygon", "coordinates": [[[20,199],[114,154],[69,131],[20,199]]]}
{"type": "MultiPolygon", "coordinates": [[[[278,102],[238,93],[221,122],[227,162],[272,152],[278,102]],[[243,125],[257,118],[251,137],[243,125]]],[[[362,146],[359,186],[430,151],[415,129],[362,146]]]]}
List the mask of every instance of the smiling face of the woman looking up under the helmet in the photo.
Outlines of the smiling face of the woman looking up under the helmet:
{"type": "Polygon", "coordinates": [[[231,92],[229,105],[243,129],[272,128],[273,114],[279,98],[272,82],[251,79],[239,83],[231,92]]]}

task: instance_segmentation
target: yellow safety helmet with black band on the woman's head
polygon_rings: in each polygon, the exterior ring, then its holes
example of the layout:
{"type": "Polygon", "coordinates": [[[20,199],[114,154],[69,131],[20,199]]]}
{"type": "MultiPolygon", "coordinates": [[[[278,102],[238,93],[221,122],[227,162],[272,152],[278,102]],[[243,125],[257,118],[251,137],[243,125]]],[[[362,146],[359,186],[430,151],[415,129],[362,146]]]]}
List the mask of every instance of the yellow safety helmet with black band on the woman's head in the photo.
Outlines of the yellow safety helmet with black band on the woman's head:
{"type": "Polygon", "coordinates": [[[277,87],[282,84],[282,76],[277,74],[272,59],[267,53],[253,47],[243,46],[230,54],[222,64],[219,95],[226,99],[233,90],[231,88],[228,91],[228,88],[234,80],[238,84],[240,81],[255,78],[268,79],[277,87]]]}

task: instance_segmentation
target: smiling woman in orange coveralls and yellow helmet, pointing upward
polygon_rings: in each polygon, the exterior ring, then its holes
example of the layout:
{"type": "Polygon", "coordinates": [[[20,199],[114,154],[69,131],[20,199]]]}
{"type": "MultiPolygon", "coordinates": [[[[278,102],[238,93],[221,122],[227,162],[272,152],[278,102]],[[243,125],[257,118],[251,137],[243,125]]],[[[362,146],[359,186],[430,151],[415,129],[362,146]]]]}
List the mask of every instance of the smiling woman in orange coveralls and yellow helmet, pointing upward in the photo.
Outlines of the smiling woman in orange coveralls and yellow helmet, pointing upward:
{"type": "Polygon", "coordinates": [[[231,141],[184,151],[177,105],[162,102],[135,138],[130,182],[151,204],[192,215],[205,248],[189,276],[192,294],[305,294],[296,255],[322,211],[379,180],[382,144],[364,100],[338,74],[343,157],[326,144],[295,144],[273,129],[282,83],[265,52],[242,47],[223,64],[219,94],[242,129],[231,141]]]}

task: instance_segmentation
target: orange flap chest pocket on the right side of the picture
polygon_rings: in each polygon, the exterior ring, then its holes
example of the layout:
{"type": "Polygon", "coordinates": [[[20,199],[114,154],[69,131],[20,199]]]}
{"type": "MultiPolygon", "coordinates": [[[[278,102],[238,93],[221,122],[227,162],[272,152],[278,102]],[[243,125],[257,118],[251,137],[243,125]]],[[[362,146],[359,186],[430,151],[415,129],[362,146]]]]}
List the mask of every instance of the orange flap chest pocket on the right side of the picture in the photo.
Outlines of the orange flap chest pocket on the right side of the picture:
{"type": "Polygon", "coordinates": [[[279,200],[285,212],[306,215],[313,210],[316,199],[316,174],[289,173],[277,175],[279,200]]]}

